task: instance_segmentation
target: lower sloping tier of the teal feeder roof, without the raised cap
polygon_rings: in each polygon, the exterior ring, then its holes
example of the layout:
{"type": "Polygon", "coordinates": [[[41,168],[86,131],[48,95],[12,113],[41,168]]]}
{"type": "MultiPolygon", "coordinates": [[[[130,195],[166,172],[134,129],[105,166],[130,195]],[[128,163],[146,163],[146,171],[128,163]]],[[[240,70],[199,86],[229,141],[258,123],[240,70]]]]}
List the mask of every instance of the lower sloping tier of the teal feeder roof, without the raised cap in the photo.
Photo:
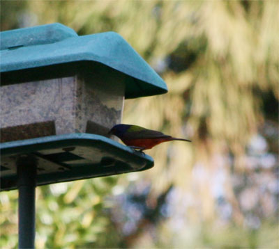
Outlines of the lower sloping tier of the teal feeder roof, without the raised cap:
{"type": "Polygon", "coordinates": [[[129,76],[126,98],[167,93],[163,79],[121,35],[114,32],[73,36],[50,44],[3,49],[0,53],[1,74],[93,61],[129,76]]]}

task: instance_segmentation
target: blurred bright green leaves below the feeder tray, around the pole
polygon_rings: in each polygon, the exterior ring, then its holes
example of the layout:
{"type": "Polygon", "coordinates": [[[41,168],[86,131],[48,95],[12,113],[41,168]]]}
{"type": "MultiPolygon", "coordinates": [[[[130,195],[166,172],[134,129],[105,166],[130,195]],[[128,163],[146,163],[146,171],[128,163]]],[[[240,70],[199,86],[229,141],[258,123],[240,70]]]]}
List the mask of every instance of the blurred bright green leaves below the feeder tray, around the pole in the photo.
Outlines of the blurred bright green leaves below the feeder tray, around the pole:
{"type": "MultiPolygon", "coordinates": [[[[105,213],[116,177],[36,188],[36,247],[111,247],[118,240],[105,213]],[[94,184],[92,184],[94,182],[94,184]],[[110,231],[107,238],[106,231],[110,231]]],[[[1,193],[1,248],[17,245],[17,191],[1,193]],[[6,219],[8,217],[8,220],[6,219]]]]}

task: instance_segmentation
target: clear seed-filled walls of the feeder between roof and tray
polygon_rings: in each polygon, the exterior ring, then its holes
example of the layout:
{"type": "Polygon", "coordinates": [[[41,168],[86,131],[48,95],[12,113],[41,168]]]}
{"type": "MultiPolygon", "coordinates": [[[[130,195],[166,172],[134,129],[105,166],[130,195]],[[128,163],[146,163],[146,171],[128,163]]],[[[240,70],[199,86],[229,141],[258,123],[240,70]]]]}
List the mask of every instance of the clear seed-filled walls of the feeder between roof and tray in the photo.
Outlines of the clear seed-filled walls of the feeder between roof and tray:
{"type": "Polygon", "coordinates": [[[107,136],[121,122],[126,75],[97,71],[1,86],[1,143],[72,133],[107,136]]]}

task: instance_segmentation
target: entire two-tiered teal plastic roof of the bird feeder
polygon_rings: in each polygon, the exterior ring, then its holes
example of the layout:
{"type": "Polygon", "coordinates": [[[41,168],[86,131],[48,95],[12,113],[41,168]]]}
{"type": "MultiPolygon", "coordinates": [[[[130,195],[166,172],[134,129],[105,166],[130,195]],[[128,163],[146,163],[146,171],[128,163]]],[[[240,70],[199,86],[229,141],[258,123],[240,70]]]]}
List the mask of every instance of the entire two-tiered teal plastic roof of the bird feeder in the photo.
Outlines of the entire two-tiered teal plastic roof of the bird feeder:
{"type": "Polygon", "coordinates": [[[44,67],[95,62],[130,76],[126,98],[167,93],[163,79],[114,32],[78,36],[62,24],[47,24],[3,31],[0,39],[3,79],[10,75],[20,78],[28,70],[44,67]]]}

